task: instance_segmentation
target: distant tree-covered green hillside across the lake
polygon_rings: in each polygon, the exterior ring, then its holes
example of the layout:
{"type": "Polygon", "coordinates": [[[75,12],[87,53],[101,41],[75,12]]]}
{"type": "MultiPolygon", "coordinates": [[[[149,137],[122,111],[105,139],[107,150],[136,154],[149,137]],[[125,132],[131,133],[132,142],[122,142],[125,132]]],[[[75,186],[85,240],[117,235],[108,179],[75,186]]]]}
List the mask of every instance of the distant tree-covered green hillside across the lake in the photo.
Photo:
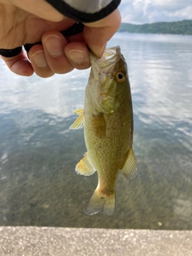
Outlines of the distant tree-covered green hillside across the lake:
{"type": "Polygon", "coordinates": [[[145,34],[192,34],[192,20],[184,20],[182,22],[155,22],[143,25],[122,23],[118,32],[145,34]]]}

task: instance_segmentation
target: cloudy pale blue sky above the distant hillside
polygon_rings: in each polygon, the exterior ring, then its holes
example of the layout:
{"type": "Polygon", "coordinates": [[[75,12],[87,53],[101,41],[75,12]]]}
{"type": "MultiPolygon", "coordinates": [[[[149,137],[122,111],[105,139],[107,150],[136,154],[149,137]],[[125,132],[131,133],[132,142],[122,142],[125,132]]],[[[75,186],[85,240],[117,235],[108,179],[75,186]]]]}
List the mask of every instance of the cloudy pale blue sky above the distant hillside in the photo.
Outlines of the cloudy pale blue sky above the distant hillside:
{"type": "Polygon", "coordinates": [[[122,0],[122,22],[144,24],[192,19],[192,0],[122,0]]]}

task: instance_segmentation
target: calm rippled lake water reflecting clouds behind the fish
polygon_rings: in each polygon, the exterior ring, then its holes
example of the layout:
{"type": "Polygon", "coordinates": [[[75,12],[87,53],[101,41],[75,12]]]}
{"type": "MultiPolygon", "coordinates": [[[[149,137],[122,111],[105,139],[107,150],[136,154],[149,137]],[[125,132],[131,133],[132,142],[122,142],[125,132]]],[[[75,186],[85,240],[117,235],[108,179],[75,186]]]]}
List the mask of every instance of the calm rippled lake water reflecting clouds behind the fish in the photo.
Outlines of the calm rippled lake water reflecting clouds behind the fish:
{"type": "Polygon", "coordinates": [[[113,216],[84,213],[98,177],[77,175],[90,70],[19,77],[0,60],[0,225],[192,230],[192,36],[115,34],[129,68],[139,175],[119,174],[113,216]]]}

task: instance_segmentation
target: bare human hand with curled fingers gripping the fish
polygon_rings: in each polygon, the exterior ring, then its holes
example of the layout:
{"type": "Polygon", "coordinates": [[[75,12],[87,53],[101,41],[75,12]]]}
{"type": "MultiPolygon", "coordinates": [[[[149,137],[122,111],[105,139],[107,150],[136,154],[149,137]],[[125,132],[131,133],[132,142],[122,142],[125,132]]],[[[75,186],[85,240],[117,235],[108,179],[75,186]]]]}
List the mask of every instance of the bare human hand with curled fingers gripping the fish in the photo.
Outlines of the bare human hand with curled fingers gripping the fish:
{"type": "Polygon", "coordinates": [[[44,1],[0,0],[0,49],[42,41],[30,49],[28,58],[22,51],[2,59],[15,74],[30,76],[35,72],[42,78],[90,67],[88,47],[101,58],[106,42],[120,26],[121,16],[114,10],[98,22],[84,23],[81,34],[64,38],[59,31],[75,22],[44,1]]]}

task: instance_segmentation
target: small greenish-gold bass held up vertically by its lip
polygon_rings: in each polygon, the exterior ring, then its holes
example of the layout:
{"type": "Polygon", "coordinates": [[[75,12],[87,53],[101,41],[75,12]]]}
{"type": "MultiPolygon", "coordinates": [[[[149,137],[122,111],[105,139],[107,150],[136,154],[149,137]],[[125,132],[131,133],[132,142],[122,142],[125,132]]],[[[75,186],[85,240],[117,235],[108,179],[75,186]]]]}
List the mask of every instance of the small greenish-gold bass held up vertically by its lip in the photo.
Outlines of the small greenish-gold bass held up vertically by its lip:
{"type": "Polygon", "coordinates": [[[84,126],[87,152],[75,167],[90,176],[97,170],[98,186],[86,204],[86,214],[114,214],[119,171],[133,181],[138,166],[133,151],[133,107],[126,59],[120,46],[106,48],[101,59],[90,52],[90,77],[84,108],[70,130],[84,126]]]}

